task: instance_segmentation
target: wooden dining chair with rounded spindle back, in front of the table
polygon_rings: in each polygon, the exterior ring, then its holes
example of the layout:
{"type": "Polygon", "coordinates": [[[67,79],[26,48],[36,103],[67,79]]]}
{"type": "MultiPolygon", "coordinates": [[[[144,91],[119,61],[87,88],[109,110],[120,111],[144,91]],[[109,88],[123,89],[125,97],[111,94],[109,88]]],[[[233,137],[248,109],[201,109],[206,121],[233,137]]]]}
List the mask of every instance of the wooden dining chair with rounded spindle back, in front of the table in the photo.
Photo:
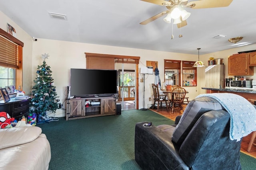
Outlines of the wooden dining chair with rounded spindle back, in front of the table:
{"type": "Polygon", "coordinates": [[[182,87],[176,87],[172,90],[171,96],[172,113],[174,112],[174,107],[176,106],[178,106],[180,110],[183,110],[182,104],[186,96],[186,90],[182,87]]]}

